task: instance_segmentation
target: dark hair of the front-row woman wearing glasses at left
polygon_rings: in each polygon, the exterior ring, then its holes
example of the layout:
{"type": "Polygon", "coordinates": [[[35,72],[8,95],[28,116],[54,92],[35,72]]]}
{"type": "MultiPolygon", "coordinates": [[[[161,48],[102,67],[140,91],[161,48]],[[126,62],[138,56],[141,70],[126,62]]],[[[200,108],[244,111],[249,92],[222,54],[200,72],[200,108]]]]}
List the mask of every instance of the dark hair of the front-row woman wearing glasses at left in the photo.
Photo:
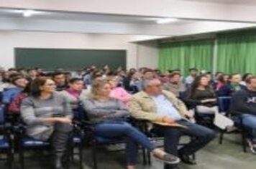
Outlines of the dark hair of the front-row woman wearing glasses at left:
{"type": "Polygon", "coordinates": [[[40,97],[41,90],[40,87],[45,85],[45,82],[47,79],[50,79],[49,77],[37,77],[34,79],[30,84],[30,92],[29,95],[32,95],[33,97],[40,97]]]}

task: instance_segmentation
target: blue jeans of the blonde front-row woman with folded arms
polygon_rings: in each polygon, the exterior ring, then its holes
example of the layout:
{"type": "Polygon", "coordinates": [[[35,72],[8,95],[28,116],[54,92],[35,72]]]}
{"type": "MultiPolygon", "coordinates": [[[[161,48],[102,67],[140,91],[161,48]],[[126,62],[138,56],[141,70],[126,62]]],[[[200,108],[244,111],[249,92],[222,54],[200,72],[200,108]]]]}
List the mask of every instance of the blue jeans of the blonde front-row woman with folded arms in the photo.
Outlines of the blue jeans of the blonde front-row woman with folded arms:
{"type": "Polygon", "coordinates": [[[95,125],[95,132],[99,136],[109,138],[122,137],[126,140],[127,165],[135,165],[137,163],[138,144],[149,151],[156,148],[155,145],[150,143],[146,135],[137,130],[137,128],[132,127],[128,122],[115,120],[102,122],[95,125]]]}

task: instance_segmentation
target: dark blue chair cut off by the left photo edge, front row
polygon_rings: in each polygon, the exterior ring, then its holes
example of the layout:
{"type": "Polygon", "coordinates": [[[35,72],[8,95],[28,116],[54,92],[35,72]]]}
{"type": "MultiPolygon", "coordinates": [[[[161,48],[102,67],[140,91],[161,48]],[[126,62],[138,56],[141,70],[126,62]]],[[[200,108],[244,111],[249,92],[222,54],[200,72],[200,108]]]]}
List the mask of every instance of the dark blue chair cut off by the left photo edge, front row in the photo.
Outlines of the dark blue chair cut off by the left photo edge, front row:
{"type": "Polygon", "coordinates": [[[12,168],[12,162],[14,159],[11,130],[10,127],[6,125],[6,118],[4,114],[4,105],[0,105],[0,153],[6,155],[5,160],[9,168],[12,168]]]}

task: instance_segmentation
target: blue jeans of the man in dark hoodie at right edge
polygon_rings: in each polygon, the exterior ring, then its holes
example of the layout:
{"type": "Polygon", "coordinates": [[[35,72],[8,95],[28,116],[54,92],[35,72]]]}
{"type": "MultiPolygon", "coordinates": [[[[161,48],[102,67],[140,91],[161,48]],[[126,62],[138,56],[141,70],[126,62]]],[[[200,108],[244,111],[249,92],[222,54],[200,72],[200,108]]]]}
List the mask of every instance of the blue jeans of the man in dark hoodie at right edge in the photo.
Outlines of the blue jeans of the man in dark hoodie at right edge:
{"type": "Polygon", "coordinates": [[[243,114],[239,115],[239,117],[234,117],[234,124],[238,127],[241,125],[239,118],[242,118],[242,125],[248,129],[251,139],[256,141],[256,115],[243,114]]]}

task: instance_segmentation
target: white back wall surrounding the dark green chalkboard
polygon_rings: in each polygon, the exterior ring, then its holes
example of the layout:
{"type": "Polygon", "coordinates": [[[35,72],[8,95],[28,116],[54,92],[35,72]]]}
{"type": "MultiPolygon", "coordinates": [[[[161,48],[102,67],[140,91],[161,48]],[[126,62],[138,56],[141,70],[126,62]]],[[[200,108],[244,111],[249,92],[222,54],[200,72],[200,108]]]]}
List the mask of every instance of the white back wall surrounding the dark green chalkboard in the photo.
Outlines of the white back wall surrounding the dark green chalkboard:
{"type": "Polygon", "coordinates": [[[144,56],[144,54],[148,55],[148,53],[150,53],[147,52],[147,49],[150,49],[150,51],[152,51],[152,49],[147,46],[145,47],[144,45],[141,46],[132,43],[134,39],[138,39],[138,36],[118,34],[0,31],[0,66],[5,68],[14,67],[14,47],[126,49],[127,68],[152,65],[151,61],[149,62],[147,60],[148,57],[144,56]],[[137,51],[138,46],[139,52],[137,51]],[[140,62],[140,64],[138,62],[140,62]]]}

